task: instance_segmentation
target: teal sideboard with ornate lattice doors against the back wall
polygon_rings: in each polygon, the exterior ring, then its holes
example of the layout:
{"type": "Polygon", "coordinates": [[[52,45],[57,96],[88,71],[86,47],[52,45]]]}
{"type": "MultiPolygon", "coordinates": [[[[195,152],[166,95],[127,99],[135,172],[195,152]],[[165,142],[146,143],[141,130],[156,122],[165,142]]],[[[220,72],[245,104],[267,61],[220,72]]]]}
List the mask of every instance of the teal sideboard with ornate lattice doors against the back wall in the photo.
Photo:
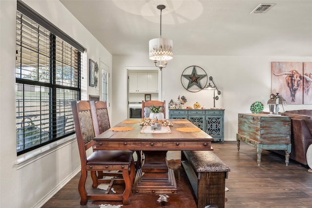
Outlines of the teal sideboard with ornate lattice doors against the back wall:
{"type": "Polygon", "coordinates": [[[185,118],[214,138],[224,142],[224,109],[169,109],[169,118],[185,118]]]}

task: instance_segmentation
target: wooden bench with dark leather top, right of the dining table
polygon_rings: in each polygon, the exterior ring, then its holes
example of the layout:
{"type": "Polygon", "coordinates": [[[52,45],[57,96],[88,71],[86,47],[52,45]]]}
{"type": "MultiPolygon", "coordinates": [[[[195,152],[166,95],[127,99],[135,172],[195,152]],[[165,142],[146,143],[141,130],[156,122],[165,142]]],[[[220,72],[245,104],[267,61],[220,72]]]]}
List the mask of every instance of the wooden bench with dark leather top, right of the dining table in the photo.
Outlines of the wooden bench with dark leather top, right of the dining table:
{"type": "Polygon", "coordinates": [[[181,164],[197,199],[197,208],[224,208],[229,167],[213,151],[181,151],[181,164]]]}

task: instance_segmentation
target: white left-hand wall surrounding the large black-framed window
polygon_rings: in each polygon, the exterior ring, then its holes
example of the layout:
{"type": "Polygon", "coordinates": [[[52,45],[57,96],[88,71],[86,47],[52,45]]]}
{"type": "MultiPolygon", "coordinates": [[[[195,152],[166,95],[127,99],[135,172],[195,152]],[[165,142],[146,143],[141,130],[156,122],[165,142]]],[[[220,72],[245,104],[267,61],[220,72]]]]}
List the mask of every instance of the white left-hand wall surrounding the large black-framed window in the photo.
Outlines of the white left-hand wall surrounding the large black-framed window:
{"type": "MultiPolygon", "coordinates": [[[[82,99],[99,95],[87,87],[88,59],[112,69],[112,55],[94,38],[59,0],[24,0],[86,48],[83,55],[82,99]],[[88,91],[88,92],[87,92],[88,91]]],[[[16,154],[15,50],[16,0],[0,0],[0,207],[40,207],[78,171],[80,159],[75,136],[37,151],[16,154]]],[[[100,80],[100,78],[99,78],[100,80]]]]}

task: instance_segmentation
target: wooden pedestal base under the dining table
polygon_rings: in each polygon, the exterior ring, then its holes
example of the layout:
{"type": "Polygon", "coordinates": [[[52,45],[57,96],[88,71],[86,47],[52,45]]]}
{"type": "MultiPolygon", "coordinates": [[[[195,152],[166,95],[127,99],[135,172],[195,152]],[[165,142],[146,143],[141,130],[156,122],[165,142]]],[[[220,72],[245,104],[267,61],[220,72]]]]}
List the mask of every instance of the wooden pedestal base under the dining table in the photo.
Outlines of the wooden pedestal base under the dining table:
{"type": "Polygon", "coordinates": [[[137,170],[132,193],[176,193],[174,171],[168,168],[167,151],[144,151],[144,163],[137,170]]]}

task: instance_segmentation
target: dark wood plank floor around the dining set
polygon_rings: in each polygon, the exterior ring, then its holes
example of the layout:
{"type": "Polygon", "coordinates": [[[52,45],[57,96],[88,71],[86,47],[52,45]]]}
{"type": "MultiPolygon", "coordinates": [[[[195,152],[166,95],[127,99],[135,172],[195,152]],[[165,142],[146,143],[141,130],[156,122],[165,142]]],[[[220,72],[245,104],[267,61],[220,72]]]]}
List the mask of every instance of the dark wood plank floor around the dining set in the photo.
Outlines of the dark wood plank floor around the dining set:
{"type": "MultiPolygon", "coordinates": [[[[258,167],[256,150],[247,144],[241,143],[239,152],[234,141],[215,142],[212,146],[231,169],[226,179],[226,208],[312,208],[312,172],[307,167],[292,160],[286,166],[283,156],[270,151],[262,152],[258,167]]],[[[77,184],[78,176],[42,208],[98,208],[92,202],[79,206],[77,184]]],[[[149,202],[142,208],[150,208],[149,202]]]]}

